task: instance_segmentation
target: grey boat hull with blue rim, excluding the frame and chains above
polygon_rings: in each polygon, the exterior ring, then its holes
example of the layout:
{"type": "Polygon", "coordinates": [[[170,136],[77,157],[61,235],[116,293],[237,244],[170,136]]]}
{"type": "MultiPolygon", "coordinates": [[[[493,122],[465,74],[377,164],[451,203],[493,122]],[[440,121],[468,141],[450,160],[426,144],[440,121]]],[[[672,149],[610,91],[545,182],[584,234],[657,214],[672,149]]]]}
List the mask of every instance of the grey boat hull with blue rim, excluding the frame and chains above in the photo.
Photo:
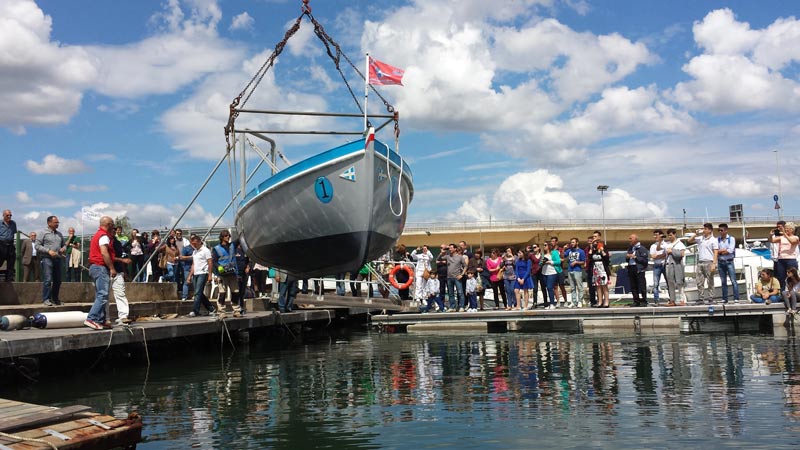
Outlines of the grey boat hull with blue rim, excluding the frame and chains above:
{"type": "Polygon", "coordinates": [[[236,212],[249,257],[299,278],[357,270],[399,239],[414,196],[403,158],[375,139],[324,151],[247,193],[236,212]]]}

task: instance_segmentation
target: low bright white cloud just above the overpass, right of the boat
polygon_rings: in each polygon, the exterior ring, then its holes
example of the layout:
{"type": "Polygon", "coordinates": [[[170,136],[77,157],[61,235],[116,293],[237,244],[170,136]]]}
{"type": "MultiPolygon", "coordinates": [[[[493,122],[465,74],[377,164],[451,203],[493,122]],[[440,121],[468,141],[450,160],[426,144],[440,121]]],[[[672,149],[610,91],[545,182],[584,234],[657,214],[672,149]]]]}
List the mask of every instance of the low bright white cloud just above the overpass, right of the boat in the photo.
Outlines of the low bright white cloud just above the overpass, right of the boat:
{"type": "MultiPolygon", "coordinates": [[[[606,218],[664,217],[666,205],[640,200],[623,189],[604,196],[606,218]]],[[[511,219],[600,218],[600,203],[579,202],[564,180],[547,170],[519,172],[497,187],[491,203],[483,195],[465,201],[452,216],[485,220],[489,215],[511,219]]]]}

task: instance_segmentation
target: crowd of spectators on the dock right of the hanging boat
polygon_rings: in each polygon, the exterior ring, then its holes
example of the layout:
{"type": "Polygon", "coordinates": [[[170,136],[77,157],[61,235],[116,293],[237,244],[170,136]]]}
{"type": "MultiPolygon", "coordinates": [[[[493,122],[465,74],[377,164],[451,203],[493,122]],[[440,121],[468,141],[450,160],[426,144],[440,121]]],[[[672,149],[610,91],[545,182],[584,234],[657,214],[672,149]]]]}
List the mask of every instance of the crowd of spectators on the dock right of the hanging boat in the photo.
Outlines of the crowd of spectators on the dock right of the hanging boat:
{"type": "MultiPolygon", "coordinates": [[[[736,239],[727,224],[719,224],[714,233],[711,223],[689,233],[688,243],[696,244],[695,278],[698,299],[695,304],[711,305],[740,301],[734,258],[736,239]],[[721,298],[714,296],[715,274],[721,283],[721,298]],[[730,289],[729,289],[730,286],[730,289]]],[[[670,228],[653,231],[653,243],[643,245],[636,234],[628,238],[623,269],[630,283],[632,307],[686,305],[685,265],[687,247],[678,231],[670,228]],[[646,274],[652,273],[652,291],[646,274]],[[660,288],[666,283],[667,298],[660,288]],[[651,301],[648,294],[652,292],[651,301]]],[[[771,303],[783,300],[787,314],[797,312],[800,295],[798,247],[794,224],[779,221],[770,236],[774,269],[763,269],[750,301],[771,303]]],[[[577,238],[560,244],[557,236],[548,242],[521,249],[494,248],[484,257],[481,250],[471,252],[466,242],[442,244],[437,257],[423,245],[395,258],[414,261],[414,300],[421,312],[474,312],[487,309],[486,293],[491,290],[493,309],[524,310],[544,307],[609,307],[611,268],[609,252],[599,231],[588,236],[581,246],[577,238]],[[569,294],[566,287],[570,287],[569,294]],[[541,293],[542,301],[539,301],[541,293]]]]}

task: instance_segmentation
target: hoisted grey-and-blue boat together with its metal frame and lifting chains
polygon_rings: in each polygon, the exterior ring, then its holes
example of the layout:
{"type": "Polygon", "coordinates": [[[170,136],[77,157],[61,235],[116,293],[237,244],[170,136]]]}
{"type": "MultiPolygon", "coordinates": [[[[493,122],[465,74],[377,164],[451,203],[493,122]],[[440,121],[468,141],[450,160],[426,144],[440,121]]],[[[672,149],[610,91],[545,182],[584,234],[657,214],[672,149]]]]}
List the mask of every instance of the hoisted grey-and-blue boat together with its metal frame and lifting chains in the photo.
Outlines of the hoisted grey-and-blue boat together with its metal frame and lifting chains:
{"type": "MultiPolygon", "coordinates": [[[[268,267],[287,271],[298,278],[336,275],[361,268],[391,249],[403,232],[408,206],[414,197],[411,169],[398,153],[399,113],[372,84],[369,54],[365,70],[360,72],[341,47],[328,35],[322,24],[311,15],[308,0],[303,0],[301,15],[290,27],[273,53],[253,75],[250,82],[230,105],[225,137],[228,155],[235,155],[235,145],[242,144],[239,180],[241,188],[234,197],[234,222],[238,239],[248,256],[268,267]],[[349,63],[364,81],[364,103],[352,95],[359,113],[320,111],[269,111],[245,108],[248,99],[273,66],[286,42],[297,32],[304,18],[314,26],[314,34],[327,49],[351,94],[353,91],[342,72],[342,63],[349,63]],[[336,52],[331,49],[335,48],[336,52]],[[344,59],[341,59],[344,57],[344,59]],[[370,114],[367,98],[370,90],[383,101],[387,115],[370,114]],[[363,127],[353,131],[330,130],[250,130],[237,128],[240,114],[306,115],[317,117],[363,117],[363,127]],[[370,119],[388,119],[374,127],[370,119]],[[394,124],[395,145],[390,149],[376,140],[376,130],[394,124]],[[237,136],[238,134],[238,136],[237,136]],[[308,159],[277,170],[273,134],[342,134],[360,138],[322,151],[308,159]],[[250,144],[262,162],[272,161],[273,172],[257,187],[247,185],[247,136],[255,136],[272,144],[270,156],[250,144]],[[238,197],[243,195],[243,197],[238,197]]],[[[383,82],[377,84],[385,84],[383,82]]],[[[398,83],[394,83],[398,84],[398,83]]],[[[285,158],[283,158],[285,161],[285,158]]],[[[288,162],[288,161],[287,161],[288,162]]],[[[260,163],[259,163],[260,164],[260,163]]],[[[257,170],[258,168],[256,168],[257,170]]],[[[254,172],[255,173],[255,172],[254,172]]],[[[232,180],[233,181],[233,180],[232,180]]]]}

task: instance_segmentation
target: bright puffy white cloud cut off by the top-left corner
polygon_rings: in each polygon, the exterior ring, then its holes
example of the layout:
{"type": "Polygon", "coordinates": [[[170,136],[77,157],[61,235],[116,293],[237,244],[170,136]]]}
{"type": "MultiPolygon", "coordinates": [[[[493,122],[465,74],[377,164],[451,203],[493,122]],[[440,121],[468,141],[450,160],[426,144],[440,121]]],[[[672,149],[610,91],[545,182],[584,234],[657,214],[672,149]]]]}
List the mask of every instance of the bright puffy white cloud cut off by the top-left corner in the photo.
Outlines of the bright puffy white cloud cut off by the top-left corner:
{"type": "Polygon", "coordinates": [[[32,0],[0,2],[0,126],[15,133],[69,122],[97,77],[97,62],[51,41],[51,30],[52,18],[32,0]]]}

